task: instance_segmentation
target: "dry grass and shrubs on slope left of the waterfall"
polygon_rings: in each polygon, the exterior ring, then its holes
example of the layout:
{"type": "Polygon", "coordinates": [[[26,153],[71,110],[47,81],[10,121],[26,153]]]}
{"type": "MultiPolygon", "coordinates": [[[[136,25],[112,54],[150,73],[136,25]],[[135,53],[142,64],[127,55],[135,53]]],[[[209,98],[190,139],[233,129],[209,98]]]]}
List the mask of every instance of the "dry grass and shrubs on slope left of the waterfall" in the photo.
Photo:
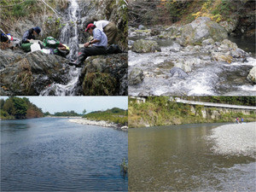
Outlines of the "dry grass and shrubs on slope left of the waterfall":
{"type": "MultiPolygon", "coordinates": [[[[67,0],[44,0],[44,2],[55,9],[55,12],[67,9],[67,0]]],[[[19,23],[19,20],[38,21],[39,18],[44,18],[44,24],[40,26],[44,29],[44,36],[40,40],[47,36],[57,37],[62,26],[61,17],[57,18],[54,11],[44,2],[41,0],[1,0],[0,27],[4,32],[9,32],[19,23]]]]}

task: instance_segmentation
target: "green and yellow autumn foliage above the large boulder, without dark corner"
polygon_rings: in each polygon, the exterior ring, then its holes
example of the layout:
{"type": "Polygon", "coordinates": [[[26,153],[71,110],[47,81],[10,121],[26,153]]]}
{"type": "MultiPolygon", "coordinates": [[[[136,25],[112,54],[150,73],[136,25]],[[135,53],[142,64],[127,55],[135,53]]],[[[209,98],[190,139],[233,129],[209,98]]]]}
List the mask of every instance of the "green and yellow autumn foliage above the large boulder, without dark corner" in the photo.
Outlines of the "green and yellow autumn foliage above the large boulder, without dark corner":
{"type": "Polygon", "coordinates": [[[232,20],[230,15],[241,12],[247,0],[160,0],[130,3],[129,22],[143,25],[190,23],[198,17],[209,17],[216,22],[232,20]]]}

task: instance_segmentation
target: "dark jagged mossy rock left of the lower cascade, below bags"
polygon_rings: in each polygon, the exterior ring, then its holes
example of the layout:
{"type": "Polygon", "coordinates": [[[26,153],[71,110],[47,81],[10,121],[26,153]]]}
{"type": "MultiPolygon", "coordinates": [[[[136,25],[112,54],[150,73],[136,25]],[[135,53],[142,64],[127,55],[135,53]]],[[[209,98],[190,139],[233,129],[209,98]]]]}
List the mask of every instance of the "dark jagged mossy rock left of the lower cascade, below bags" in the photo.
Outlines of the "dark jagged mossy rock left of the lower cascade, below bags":
{"type": "Polygon", "coordinates": [[[61,56],[41,51],[27,54],[2,51],[1,95],[38,96],[49,84],[66,84],[66,74],[70,70],[66,63],[61,56]]]}

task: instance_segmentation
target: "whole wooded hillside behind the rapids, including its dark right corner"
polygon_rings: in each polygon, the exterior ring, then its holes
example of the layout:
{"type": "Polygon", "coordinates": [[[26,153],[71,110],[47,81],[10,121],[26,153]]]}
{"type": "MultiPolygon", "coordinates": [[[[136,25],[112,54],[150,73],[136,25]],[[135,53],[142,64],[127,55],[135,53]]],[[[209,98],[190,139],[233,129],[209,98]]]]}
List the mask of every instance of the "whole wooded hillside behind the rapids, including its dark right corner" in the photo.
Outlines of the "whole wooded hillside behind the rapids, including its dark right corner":
{"type": "Polygon", "coordinates": [[[236,34],[255,33],[255,1],[253,0],[146,0],[132,1],[129,25],[146,26],[187,24],[198,17],[209,17],[224,26],[235,26],[236,34]]]}

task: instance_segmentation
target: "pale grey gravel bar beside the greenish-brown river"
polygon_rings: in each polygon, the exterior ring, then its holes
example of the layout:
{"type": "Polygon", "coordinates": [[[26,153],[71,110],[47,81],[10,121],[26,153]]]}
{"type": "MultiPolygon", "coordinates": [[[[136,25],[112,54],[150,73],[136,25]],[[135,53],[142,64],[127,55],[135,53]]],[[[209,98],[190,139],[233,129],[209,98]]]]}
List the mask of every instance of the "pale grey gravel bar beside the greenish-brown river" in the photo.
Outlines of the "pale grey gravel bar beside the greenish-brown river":
{"type": "Polygon", "coordinates": [[[245,155],[256,158],[256,122],[222,125],[207,137],[214,141],[218,154],[245,155]]]}

